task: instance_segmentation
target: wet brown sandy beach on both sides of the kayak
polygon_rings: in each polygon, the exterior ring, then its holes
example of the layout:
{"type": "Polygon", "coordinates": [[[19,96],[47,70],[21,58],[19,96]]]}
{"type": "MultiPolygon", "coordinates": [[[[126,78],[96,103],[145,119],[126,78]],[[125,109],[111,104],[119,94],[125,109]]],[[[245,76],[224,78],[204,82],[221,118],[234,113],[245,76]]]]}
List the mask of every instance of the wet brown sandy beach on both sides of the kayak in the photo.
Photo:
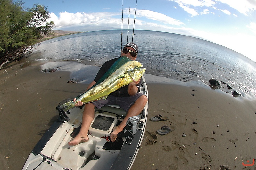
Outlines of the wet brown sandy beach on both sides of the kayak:
{"type": "MultiPolygon", "coordinates": [[[[45,62],[21,60],[0,70],[1,169],[22,169],[31,150],[57,119],[58,103],[82,93],[99,69],[76,63],[79,73],[44,73],[40,65],[45,62]],[[84,81],[67,83],[72,78],[84,81]]],[[[256,169],[256,164],[242,164],[256,159],[255,94],[235,98],[201,82],[148,74],[145,79],[149,112],[133,170],[256,169]],[[158,114],[169,119],[149,120],[158,114]],[[157,134],[163,125],[175,130],[157,134]]]]}

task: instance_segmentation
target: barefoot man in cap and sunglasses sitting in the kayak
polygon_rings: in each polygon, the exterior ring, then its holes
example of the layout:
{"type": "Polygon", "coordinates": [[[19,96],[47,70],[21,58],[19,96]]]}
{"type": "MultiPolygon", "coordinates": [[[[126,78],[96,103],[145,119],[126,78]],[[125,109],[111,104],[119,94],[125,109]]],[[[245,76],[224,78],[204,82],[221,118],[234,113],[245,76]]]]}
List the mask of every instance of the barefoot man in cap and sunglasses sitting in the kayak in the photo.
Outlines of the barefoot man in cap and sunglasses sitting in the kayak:
{"type": "MultiPolygon", "coordinates": [[[[137,45],[135,43],[127,43],[122,50],[121,56],[126,56],[131,60],[135,60],[137,58],[137,53],[137,45]]],[[[109,60],[102,65],[94,81],[88,85],[87,90],[91,88],[105,74],[105,72],[108,71],[108,69],[117,59],[118,58],[109,60]]],[[[112,92],[106,100],[102,99],[85,104],[80,132],[73,140],[69,142],[69,145],[75,146],[89,140],[88,130],[94,119],[94,107],[100,109],[104,105],[119,105],[127,112],[126,117],[123,119],[120,125],[114,128],[113,132],[110,134],[110,139],[112,142],[114,142],[117,138],[117,134],[125,127],[128,118],[139,115],[148,101],[144,94],[138,92],[138,87],[136,85],[140,83],[141,81],[131,82],[129,85],[112,92]]],[[[76,101],[76,99],[74,99],[74,101],[76,101]]],[[[78,101],[75,104],[75,106],[82,105],[83,102],[81,101],[78,101]]]]}

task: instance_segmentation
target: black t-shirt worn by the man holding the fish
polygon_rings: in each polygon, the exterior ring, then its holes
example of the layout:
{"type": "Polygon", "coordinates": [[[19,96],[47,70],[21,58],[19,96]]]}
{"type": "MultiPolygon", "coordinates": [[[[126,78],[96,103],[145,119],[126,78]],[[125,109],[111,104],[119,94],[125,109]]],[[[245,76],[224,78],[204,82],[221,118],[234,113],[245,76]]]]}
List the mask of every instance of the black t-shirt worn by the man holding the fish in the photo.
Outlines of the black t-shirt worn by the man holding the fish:
{"type": "MultiPolygon", "coordinates": [[[[108,71],[108,69],[109,69],[109,68],[114,64],[114,62],[117,61],[117,60],[118,60],[118,58],[114,58],[114,59],[111,59],[111,60],[105,62],[105,63],[101,66],[101,68],[100,68],[99,72],[97,73],[97,75],[96,75],[94,81],[95,81],[95,82],[99,81],[99,79],[108,71]]],[[[139,84],[141,84],[141,81],[140,81],[139,84]]],[[[118,89],[118,90],[116,90],[116,91],[110,93],[110,95],[113,95],[113,96],[116,96],[116,97],[129,97],[130,95],[129,95],[129,93],[127,92],[127,90],[128,90],[128,85],[126,85],[126,86],[124,86],[124,87],[121,87],[120,89],[118,89]]]]}

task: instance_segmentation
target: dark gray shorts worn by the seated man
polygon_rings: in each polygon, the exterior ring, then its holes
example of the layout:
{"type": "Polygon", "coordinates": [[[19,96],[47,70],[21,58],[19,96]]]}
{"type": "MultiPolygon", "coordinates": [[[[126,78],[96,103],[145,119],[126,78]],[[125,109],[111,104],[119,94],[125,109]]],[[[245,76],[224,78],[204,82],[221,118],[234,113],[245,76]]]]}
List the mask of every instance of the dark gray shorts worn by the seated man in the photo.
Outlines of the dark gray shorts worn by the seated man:
{"type": "Polygon", "coordinates": [[[139,92],[130,97],[115,97],[113,95],[109,95],[106,100],[101,99],[98,101],[94,101],[93,104],[98,109],[101,109],[101,107],[103,107],[103,106],[118,105],[118,106],[120,106],[120,108],[122,108],[126,112],[128,112],[131,105],[133,105],[135,103],[135,101],[142,95],[144,95],[144,94],[139,93],[139,92]]]}

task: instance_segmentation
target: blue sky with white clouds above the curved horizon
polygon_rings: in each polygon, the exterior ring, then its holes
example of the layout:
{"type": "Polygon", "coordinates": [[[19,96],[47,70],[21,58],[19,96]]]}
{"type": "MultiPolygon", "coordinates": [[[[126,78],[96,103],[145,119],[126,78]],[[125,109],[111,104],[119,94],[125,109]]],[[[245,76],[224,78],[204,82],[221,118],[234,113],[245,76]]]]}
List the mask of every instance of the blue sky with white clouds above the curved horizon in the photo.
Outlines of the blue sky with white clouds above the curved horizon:
{"type": "MultiPolygon", "coordinates": [[[[223,45],[256,62],[256,0],[23,0],[48,8],[55,30],[153,30],[223,45]],[[135,15],[136,9],[136,15],[135,15]],[[130,11],[130,12],[129,12],[130,11]]],[[[15,2],[15,1],[14,1],[15,2]]]]}

